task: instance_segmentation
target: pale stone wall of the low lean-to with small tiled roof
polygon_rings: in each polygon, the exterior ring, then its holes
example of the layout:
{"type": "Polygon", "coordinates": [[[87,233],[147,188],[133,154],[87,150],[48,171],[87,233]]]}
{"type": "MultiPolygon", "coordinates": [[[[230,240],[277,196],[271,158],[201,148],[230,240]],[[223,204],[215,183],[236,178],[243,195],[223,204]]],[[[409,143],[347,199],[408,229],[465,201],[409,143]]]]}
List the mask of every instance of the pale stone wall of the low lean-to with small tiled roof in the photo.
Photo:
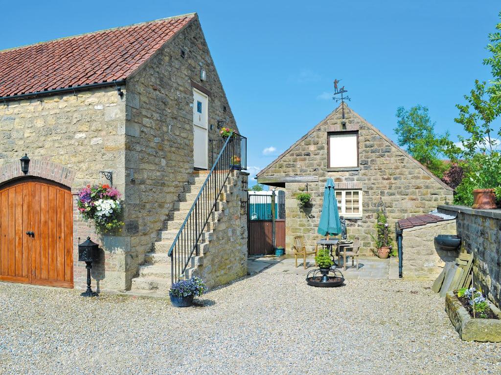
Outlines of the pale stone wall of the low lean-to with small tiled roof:
{"type": "Polygon", "coordinates": [[[438,221],[402,231],[404,278],[434,280],[442,271],[445,262],[457,258],[459,250],[444,251],[435,247],[434,238],[438,234],[456,234],[456,221],[438,221]]]}

